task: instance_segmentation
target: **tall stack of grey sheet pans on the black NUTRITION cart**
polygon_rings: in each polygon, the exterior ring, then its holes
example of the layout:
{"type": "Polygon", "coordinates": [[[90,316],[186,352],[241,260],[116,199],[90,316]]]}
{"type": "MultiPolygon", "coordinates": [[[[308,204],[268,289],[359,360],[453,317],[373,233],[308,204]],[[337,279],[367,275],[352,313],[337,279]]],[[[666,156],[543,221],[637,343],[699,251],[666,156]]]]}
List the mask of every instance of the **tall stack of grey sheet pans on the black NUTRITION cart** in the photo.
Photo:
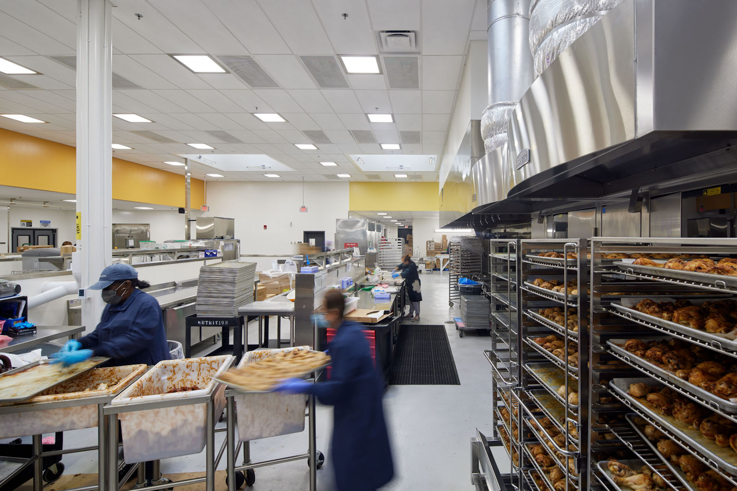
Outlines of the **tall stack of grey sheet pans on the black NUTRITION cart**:
{"type": "Polygon", "coordinates": [[[238,307],[254,301],[255,262],[223,261],[200,268],[197,315],[235,317],[238,307]]]}

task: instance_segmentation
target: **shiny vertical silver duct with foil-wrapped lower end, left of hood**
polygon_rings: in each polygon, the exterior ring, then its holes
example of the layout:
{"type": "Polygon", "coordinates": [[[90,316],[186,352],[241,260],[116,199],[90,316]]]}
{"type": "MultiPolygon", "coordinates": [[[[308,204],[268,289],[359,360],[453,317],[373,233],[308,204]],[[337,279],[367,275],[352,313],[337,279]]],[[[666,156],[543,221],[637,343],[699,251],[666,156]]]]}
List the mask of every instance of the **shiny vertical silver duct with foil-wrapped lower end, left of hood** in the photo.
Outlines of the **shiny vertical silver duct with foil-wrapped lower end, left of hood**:
{"type": "Polygon", "coordinates": [[[486,153],[507,141],[507,119],[534,80],[527,48],[531,0],[489,0],[489,107],[481,116],[486,153]]]}

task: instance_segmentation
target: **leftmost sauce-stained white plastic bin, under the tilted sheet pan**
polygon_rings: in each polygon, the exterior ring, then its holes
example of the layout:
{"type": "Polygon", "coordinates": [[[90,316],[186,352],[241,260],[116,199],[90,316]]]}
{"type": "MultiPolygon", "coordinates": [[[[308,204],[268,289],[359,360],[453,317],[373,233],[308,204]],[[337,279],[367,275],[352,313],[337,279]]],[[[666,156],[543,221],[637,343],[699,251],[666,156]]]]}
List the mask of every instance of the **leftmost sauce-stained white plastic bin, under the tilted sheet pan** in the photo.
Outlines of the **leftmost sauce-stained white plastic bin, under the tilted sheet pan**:
{"type": "MultiPolygon", "coordinates": [[[[146,365],[128,365],[91,369],[19,403],[18,406],[22,408],[23,405],[33,403],[57,403],[100,395],[112,396],[122,391],[131,380],[145,372],[146,368],[146,365]],[[97,387],[102,383],[108,384],[108,388],[98,390],[97,387]]],[[[3,414],[0,417],[0,438],[56,433],[95,426],[97,426],[97,404],[24,411],[3,414]]]]}

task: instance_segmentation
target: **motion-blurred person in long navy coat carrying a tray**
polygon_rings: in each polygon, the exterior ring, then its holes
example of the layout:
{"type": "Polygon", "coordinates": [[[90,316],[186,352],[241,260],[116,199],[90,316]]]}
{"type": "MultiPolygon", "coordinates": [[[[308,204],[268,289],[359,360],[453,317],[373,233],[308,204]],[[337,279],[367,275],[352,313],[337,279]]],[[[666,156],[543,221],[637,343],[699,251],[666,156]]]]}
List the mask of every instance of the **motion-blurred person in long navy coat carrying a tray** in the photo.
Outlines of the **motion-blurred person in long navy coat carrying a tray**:
{"type": "Polygon", "coordinates": [[[345,304],[339,291],[329,291],[324,314],[317,320],[318,327],[337,329],[329,344],[331,379],[319,383],[288,379],[276,390],[314,394],[321,403],[335,406],[335,485],[338,491],[374,491],[394,476],[381,402],[383,386],[360,324],[343,320],[345,304]]]}

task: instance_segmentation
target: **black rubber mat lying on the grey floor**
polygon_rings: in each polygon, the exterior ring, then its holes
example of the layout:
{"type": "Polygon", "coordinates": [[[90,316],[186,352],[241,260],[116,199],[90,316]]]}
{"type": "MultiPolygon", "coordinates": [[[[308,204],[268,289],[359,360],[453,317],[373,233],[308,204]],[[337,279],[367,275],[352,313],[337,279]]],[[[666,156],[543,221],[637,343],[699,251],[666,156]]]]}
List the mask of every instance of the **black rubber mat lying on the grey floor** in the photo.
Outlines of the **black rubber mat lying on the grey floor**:
{"type": "Polygon", "coordinates": [[[402,325],[389,383],[461,385],[445,326],[402,325]]]}

